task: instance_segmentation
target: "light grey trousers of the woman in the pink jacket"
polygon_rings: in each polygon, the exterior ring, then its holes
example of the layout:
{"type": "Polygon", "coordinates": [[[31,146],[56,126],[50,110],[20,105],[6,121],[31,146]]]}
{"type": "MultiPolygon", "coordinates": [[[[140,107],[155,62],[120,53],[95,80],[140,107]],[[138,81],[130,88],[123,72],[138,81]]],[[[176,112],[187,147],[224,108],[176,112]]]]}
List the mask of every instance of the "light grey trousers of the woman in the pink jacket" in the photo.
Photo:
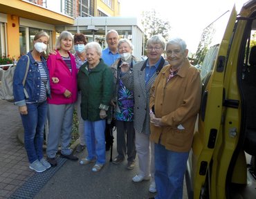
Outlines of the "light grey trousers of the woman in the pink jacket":
{"type": "Polygon", "coordinates": [[[48,158],[55,158],[59,144],[62,154],[71,154],[69,144],[71,142],[73,110],[73,104],[48,104],[49,133],[46,149],[48,158]]]}

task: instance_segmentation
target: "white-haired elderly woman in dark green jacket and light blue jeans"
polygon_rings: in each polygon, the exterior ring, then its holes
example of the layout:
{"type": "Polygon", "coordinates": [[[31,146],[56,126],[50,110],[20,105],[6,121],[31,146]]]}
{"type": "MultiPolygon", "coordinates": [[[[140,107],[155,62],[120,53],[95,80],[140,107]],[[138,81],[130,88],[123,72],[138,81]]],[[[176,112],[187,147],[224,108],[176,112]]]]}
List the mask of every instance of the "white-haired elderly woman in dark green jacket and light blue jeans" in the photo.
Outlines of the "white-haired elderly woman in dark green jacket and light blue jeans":
{"type": "Polygon", "coordinates": [[[92,171],[100,171],[106,162],[105,136],[107,111],[113,95],[111,68],[100,58],[102,48],[97,42],[86,44],[87,61],[80,67],[77,81],[81,91],[81,115],[88,156],[80,164],[95,162],[92,171]]]}

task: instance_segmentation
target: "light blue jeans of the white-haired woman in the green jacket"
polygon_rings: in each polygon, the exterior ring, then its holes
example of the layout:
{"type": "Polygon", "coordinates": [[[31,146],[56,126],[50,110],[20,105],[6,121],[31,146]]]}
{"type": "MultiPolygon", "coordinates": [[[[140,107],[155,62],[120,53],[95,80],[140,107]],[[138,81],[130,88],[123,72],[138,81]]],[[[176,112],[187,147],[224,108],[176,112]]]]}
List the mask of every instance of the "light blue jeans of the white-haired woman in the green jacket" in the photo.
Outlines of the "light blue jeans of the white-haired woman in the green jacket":
{"type": "Polygon", "coordinates": [[[98,164],[105,164],[106,162],[105,128],[105,120],[84,121],[84,138],[88,151],[87,159],[96,159],[98,164]]]}

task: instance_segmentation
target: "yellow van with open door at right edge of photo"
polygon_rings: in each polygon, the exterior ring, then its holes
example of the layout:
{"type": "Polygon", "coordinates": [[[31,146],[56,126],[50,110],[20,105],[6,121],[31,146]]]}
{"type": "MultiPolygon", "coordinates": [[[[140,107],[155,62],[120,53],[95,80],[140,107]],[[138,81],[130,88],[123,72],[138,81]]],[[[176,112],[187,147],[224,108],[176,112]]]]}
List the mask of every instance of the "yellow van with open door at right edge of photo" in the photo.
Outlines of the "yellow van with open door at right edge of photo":
{"type": "Polygon", "coordinates": [[[234,7],[201,66],[201,111],[188,169],[189,198],[256,198],[256,0],[234,7]]]}

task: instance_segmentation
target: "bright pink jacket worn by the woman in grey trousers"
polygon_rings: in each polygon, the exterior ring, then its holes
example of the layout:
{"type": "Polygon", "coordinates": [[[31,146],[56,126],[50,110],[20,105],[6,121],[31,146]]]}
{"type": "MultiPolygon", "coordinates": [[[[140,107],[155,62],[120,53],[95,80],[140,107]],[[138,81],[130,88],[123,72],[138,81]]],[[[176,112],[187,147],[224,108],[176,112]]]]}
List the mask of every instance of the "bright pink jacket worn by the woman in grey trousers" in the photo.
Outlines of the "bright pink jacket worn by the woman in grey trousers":
{"type": "Polygon", "coordinates": [[[48,97],[48,104],[72,104],[77,100],[77,68],[75,67],[75,57],[71,53],[68,54],[71,57],[72,73],[58,51],[57,55],[49,55],[47,59],[51,82],[51,98],[48,97]],[[53,83],[51,80],[52,77],[59,78],[59,82],[57,84],[53,83]],[[66,89],[71,92],[70,98],[64,96],[66,89]]]}

